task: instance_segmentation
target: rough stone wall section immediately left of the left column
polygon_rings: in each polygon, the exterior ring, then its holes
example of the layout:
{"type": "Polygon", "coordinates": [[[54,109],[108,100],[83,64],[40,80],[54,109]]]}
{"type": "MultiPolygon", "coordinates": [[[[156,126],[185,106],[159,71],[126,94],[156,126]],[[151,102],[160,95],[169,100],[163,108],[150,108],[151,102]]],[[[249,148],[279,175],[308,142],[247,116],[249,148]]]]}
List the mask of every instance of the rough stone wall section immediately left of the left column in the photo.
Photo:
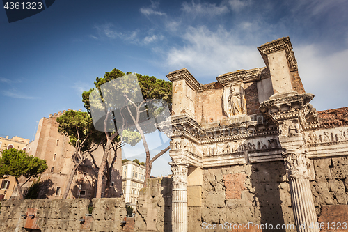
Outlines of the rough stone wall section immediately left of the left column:
{"type": "Polygon", "coordinates": [[[172,179],[149,178],[139,191],[134,230],[171,231],[172,179]]]}

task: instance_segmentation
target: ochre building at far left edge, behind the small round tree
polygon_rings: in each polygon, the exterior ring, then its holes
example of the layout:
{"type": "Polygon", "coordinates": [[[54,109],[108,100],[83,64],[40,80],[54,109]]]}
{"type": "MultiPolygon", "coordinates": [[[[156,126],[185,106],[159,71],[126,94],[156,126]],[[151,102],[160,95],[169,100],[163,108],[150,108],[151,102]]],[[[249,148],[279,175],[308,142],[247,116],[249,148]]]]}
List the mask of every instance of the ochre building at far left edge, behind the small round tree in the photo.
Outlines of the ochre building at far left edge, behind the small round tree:
{"type": "MultiPolygon", "coordinates": [[[[8,139],[0,137],[0,156],[3,150],[10,148],[16,148],[17,150],[26,150],[27,144],[29,144],[29,139],[23,139],[20,137],[12,137],[8,139]]],[[[0,201],[2,199],[10,199],[17,186],[16,180],[13,176],[7,176],[6,178],[0,179],[0,201]]]]}

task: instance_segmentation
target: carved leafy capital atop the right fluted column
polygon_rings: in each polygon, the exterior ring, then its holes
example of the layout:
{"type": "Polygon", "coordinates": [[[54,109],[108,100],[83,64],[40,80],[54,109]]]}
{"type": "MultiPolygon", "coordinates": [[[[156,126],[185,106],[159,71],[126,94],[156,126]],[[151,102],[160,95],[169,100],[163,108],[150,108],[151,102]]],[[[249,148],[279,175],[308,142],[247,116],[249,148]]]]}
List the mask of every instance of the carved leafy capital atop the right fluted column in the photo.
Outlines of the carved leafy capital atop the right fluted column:
{"type": "Polygon", "coordinates": [[[307,152],[303,148],[287,149],[283,152],[288,178],[309,178],[307,152]]]}

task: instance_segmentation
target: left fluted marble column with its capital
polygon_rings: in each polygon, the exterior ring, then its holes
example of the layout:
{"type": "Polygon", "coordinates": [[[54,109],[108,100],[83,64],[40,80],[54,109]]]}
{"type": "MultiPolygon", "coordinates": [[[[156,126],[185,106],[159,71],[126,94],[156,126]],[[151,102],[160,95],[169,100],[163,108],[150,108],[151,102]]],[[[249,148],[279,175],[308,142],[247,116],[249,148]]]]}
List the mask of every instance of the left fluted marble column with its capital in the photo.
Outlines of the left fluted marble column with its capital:
{"type": "Polygon", "coordinates": [[[173,173],[172,232],[187,232],[187,167],[184,162],[169,162],[173,173]]]}

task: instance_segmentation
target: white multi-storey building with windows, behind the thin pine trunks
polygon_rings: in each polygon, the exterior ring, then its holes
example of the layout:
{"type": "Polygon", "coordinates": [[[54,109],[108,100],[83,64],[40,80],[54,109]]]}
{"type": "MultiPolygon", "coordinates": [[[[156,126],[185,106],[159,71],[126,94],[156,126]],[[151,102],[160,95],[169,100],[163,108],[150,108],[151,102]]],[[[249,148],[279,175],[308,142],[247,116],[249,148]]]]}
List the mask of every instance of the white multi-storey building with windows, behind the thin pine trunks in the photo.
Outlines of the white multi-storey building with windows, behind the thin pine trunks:
{"type": "Polygon", "coordinates": [[[145,180],[145,167],[133,161],[122,164],[122,193],[125,201],[133,209],[136,209],[136,202],[139,191],[143,187],[145,180]]]}

